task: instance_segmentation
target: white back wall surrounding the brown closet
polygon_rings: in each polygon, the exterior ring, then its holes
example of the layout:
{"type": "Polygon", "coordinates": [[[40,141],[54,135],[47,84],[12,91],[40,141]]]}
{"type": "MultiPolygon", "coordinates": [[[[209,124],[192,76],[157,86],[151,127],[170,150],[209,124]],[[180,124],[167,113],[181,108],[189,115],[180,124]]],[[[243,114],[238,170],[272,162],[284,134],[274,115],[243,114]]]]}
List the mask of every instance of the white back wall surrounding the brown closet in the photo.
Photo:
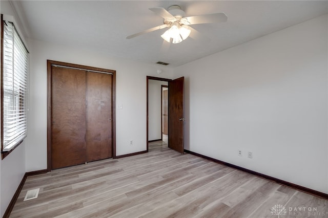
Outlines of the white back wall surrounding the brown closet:
{"type": "MultiPolygon", "coordinates": [[[[116,109],[116,155],[146,150],[146,77],[158,76],[158,64],[37,40],[30,40],[29,45],[32,52],[26,171],[47,168],[47,59],[116,70],[116,106],[122,105],[121,110],[116,109]]],[[[161,77],[172,77],[172,69],[162,71],[161,77]]]]}

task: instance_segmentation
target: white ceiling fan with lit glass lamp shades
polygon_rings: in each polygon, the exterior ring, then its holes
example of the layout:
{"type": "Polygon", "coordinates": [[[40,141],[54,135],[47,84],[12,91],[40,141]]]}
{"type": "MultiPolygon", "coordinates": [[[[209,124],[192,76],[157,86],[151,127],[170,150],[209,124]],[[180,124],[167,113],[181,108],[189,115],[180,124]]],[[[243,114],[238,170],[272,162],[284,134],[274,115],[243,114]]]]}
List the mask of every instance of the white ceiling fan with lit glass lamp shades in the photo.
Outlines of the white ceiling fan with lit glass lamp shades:
{"type": "Polygon", "coordinates": [[[163,24],[127,36],[127,39],[131,39],[136,36],[153,32],[156,30],[160,30],[163,28],[169,28],[165,33],[161,35],[161,37],[168,42],[179,43],[182,40],[188,38],[191,31],[197,32],[194,28],[190,27],[189,25],[226,22],[228,19],[227,15],[224,13],[204,14],[204,15],[184,17],[185,12],[182,11],[180,6],[178,5],[172,5],[168,8],[168,10],[166,10],[165,8],[150,8],[149,10],[161,16],[164,19],[163,24]]]}

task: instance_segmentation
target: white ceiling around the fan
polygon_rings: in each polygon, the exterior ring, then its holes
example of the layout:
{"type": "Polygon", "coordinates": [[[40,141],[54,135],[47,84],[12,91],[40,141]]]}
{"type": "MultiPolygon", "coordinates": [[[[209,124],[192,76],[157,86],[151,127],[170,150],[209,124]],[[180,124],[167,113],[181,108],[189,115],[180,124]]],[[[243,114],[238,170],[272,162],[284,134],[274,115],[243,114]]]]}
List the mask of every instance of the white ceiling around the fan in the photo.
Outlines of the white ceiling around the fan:
{"type": "Polygon", "coordinates": [[[214,54],[326,14],[328,1],[13,1],[27,37],[80,46],[142,62],[172,67],[214,54]],[[126,36],[162,24],[153,7],[179,5],[186,16],[224,12],[227,23],[192,25],[201,33],[168,45],[157,30],[126,36]]]}

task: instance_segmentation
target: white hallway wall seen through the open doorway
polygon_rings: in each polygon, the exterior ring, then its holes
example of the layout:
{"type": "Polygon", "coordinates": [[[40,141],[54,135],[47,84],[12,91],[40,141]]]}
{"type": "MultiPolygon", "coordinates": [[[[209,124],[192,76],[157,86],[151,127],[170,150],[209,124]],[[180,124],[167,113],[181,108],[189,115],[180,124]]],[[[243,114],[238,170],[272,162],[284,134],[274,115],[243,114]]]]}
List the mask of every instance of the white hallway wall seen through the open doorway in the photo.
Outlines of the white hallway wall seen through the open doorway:
{"type": "Polygon", "coordinates": [[[150,79],[148,82],[148,140],[157,140],[162,137],[161,128],[161,85],[168,85],[166,81],[150,79]]]}

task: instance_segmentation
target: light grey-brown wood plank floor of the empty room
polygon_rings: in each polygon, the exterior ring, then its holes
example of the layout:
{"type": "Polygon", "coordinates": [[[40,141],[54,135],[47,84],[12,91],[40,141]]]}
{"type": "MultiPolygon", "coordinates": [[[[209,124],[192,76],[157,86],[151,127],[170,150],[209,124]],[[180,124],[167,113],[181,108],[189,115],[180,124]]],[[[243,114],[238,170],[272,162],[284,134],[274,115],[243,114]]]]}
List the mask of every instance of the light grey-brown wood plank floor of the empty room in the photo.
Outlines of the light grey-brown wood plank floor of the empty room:
{"type": "Polygon", "coordinates": [[[27,178],[10,217],[278,217],[276,205],[281,218],[328,217],[324,199],[159,141],[147,154],[27,178]],[[34,188],[38,198],[23,201],[34,188]]]}

